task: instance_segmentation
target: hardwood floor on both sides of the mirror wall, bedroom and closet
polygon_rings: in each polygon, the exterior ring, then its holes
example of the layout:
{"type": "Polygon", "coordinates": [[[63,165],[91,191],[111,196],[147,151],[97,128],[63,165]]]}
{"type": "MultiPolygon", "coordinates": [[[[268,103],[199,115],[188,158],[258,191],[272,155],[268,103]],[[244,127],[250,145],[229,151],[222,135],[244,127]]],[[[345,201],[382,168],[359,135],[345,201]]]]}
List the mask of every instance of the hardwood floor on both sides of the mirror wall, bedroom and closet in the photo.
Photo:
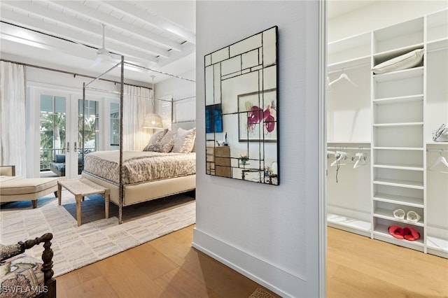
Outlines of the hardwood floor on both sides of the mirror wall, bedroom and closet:
{"type": "MultiPolygon", "coordinates": [[[[192,248],[193,227],[58,276],[57,297],[244,298],[260,287],[192,248]]],[[[448,260],[328,228],[327,297],[448,297],[448,260]]]]}

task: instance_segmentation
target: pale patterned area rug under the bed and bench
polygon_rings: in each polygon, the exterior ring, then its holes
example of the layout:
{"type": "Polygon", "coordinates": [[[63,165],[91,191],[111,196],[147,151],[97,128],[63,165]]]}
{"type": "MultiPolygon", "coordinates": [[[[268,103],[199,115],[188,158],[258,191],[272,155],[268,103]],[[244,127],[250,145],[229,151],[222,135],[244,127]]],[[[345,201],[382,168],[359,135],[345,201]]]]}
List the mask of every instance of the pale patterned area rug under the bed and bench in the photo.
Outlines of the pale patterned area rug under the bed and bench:
{"type": "MultiPolygon", "coordinates": [[[[195,199],[185,194],[147,201],[123,208],[123,223],[118,225],[118,206],[110,204],[109,219],[104,218],[104,199],[85,197],[81,204],[81,223],[76,225],[76,201],[62,191],[62,205],[53,195],[31,201],[18,201],[0,207],[0,243],[13,244],[53,234],[53,271],[60,276],[124,250],[195,223],[195,199]]],[[[27,250],[41,259],[42,244],[27,250]]]]}

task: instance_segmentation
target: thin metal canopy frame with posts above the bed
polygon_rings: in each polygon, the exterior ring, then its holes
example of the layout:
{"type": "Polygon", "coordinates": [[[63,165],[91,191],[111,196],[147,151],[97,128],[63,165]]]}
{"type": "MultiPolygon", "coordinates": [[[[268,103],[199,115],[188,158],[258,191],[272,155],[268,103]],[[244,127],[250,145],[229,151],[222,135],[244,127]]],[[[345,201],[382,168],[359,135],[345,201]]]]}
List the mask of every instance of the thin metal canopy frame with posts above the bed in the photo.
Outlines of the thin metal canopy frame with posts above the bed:
{"type": "MultiPolygon", "coordinates": [[[[113,69],[116,69],[117,67],[120,67],[120,159],[119,159],[119,168],[120,168],[120,174],[119,174],[119,192],[118,192],[118,223],[121,224],[123,222],[122,220],[122,216],[123,216],[123,198],[124,198],[124,183],[123,183],[123,96],[124,96],[124,85],[125,85],[125,81],[124,81],[124,71],[125,71],[125,65],[129,65],[129,66],[133,66],[139,69],[144,69],[147,71],[154,71],[157,73],[161,73],[163,75],[166,76],[172,76],[174,78],[179,78],[181,80],[187,80],[190,81],[192,83],[196,83],[195,80],[191,80],[188,78],[183,78],[181,76],[176,76],[173,75],[171,73],[165,73],[163,71],[158,71],[155,69],[150,69],[148,67],[145,66],[141,66],[139,64],[133,64],[130,62],[125,62],[125,57],[122,55],[120,62],[118,62],[117,64],[113,65],[110,69],[106,70],[104,73],[100,74],[99,76],[97,76],[96,78],[93,78],[92,80],[90,80],[90,82],[88,83],[83,83],[83,133],[82,133],[82,152],[81,152],[81,158],[82,160],[84,160],[84,134],[85,134],[85,90],[96,90],[99,92],[109,92],[109,93],[117,93],[117,92],[112,92],[111,90],[100,90],[94,87],[90,87],[90,85],[92,83],[94,83],[96,80],[99,80],[100,78],[102,78],[103,76],[105,76],[107,73],[111,72],[113,69]]],[[[134,95],[133,95],[134,96],[134,95]]],[[[148,98],[148,97],[146,97],[148,98]]],[[[193,122],[194,120],[187,120],[187,121],[180,121],[180,122],[174,122],[173,121],[173,114],[174,114],[174,102],[176,101],[182,101],[185,99],[191,99],[194,97],[186,97],[186,98],[182,98],[182,99],[176,99],[174,100],[174,97],[172,97],[171,100],[168,99],[156,99],[153,93],[153,99],[158,100],[158,101],[167,101],[167,102],[171,102],[171,123],[181,123],[181,122],[193,122]]]]}

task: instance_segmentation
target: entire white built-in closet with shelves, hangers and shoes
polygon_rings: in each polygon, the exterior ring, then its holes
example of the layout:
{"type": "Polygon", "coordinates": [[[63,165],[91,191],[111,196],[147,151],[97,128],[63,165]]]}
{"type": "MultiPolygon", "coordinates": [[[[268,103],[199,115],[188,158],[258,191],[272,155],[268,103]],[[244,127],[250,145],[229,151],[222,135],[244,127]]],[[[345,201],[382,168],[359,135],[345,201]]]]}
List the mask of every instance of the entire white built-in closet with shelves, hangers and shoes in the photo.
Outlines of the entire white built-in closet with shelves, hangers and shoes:
{"type": "Polygon", "coordinates": [[[448,257],[447,66],[448,10],[328,44],[328,226],[448,257]]]}

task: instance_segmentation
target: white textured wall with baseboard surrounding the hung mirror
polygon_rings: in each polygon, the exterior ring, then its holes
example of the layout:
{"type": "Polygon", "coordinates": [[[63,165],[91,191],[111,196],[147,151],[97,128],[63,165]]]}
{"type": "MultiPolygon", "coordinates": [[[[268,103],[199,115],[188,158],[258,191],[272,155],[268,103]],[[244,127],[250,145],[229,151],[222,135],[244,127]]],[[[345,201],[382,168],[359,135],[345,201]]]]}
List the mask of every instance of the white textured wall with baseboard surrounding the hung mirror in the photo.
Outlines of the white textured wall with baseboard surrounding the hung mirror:
{"type": "Polygon", "coordinates": [[[318,296],[318,1],[197,2],[193,246],[283,297],[318,296]],[[205,174],[204,55],[279,27],[279,186],[205,174]]]}

